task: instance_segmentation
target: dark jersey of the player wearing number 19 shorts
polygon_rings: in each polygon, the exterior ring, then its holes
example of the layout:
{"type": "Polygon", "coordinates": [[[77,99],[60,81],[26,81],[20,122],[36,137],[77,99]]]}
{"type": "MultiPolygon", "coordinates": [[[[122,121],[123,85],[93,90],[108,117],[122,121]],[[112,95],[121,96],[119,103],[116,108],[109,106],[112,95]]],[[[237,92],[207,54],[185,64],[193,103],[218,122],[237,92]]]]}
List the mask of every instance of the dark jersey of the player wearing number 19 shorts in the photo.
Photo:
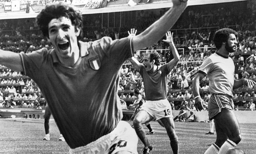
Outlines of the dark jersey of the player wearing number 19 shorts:
{"type": "Polygon", "coordinates": [[[167,75],[170,73],[168,65],[158,66],[155,72],[146,71],[143,64],[139,64],[139,73],[143,78],[146,101],[158,101],[167,98],[167,75]]]}

